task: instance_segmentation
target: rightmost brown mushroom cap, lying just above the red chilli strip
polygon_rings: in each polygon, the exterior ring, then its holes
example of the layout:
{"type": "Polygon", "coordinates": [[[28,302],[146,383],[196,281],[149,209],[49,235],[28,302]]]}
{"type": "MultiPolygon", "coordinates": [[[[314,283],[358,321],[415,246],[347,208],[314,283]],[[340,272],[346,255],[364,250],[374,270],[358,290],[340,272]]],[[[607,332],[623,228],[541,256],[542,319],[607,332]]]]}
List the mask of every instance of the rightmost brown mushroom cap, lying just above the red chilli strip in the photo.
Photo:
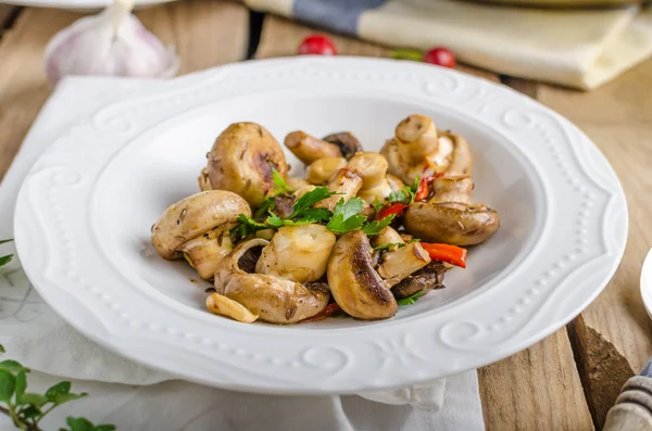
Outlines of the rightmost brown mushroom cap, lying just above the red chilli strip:
{"type": "Polygon", "coordinates": [[[403,216],[405,229],[428,242],[475,245],[500,227],[498,213],[485,205],[415,202],[403,216]]]}

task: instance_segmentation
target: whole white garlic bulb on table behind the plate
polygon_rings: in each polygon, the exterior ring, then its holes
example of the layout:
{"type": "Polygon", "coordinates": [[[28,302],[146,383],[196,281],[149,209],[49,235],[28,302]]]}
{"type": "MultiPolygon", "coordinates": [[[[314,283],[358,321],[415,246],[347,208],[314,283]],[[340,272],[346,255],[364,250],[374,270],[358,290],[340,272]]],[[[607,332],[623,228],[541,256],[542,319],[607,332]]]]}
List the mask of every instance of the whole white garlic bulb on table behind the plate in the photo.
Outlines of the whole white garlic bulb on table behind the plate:
{"type": "Polygon", "coordinates": [[[173,48],[131,14],[134,0],[115,0],[101,13],[77,20],[46,47],[46,75],[57,83],[66,75],[167,78],[179,68],[173,48]]]}

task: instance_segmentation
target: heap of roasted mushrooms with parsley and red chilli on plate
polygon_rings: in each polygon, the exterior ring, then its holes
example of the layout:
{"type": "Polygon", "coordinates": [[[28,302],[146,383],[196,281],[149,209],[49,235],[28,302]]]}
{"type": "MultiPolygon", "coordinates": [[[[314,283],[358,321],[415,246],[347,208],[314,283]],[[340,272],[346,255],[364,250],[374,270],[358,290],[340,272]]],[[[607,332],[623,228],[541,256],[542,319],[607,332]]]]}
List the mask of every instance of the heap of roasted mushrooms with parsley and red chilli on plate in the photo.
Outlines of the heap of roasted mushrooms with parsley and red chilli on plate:
{"type": "Polygon", "coordinates": [[[230,125],[208,154],[202,191],[152,227],[162,257],[212,280],[212,313],[271,324],[386,319],[443,288],[448,269],[466,267],[464,246],[499,228],[496,211],[472,202],[468,143],[428,117],[403,119],[380,153],[350,132],[293,131],[285,145],[305,178],[288,175],[263,126],[230,125]]]}

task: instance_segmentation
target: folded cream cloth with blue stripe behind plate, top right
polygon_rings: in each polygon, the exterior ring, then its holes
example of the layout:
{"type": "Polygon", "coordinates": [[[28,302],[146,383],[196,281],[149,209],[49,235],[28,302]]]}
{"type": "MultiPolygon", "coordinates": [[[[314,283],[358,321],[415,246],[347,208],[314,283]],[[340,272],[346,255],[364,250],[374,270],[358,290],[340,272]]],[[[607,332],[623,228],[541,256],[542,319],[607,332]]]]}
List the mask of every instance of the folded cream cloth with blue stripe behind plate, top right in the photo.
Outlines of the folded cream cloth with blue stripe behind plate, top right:
{"type": "Polygon", "coordinates": [[[591,89],[652,54],[652,7],[536,9],[460,0],[244,0],[398,48],[451,49],[500,74],[591,89]]]}

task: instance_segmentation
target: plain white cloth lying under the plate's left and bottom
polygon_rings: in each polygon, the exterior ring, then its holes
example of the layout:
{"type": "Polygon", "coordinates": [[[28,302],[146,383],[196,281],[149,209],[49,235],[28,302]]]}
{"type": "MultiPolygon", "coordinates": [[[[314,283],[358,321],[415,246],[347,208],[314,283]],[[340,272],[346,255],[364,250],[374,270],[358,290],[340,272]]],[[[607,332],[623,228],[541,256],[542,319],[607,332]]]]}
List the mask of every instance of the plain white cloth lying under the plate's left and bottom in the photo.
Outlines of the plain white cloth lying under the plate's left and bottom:
{"type": "MultiPolygon", "coordinates": [[[[12,237],[21,182],[50,142],[101,106],[164,86],[165,81],[155,80],[64,79],[0,185],[0,239],[12,237]]],[[[13,251],[5,244],[0,254],[13,251]]],[[[62,418],[73,414],[120,424],[122,430],[484,430],[475,371],[360,394],[391,406],[358,396],[255,395],[175,381],[100,347],[65,324],[40,299],[17,259],[0,270],[0,343],[7,357],[41,371],[30,376],[30,388],[45,389],[60,379],[53,376],[61,376],[76,379],[76,392],[92,393],[52,415],[46,426],[62,424],[62,418]]]]}

